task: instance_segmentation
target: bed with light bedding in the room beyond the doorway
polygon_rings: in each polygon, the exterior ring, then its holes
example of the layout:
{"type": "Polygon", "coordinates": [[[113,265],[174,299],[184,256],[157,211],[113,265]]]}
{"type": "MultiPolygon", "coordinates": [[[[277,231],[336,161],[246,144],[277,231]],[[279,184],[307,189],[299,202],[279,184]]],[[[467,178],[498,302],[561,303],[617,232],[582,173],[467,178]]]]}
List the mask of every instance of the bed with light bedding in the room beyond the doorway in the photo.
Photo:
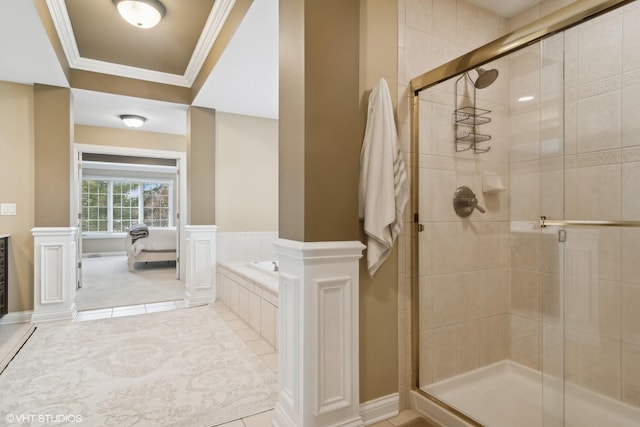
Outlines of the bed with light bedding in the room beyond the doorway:
{"type": "Polygon", "coordinates": [[[127,229],[126,249],[129,271],[137,262],[175,261],[176,228],[132,226],[127,229]]]}

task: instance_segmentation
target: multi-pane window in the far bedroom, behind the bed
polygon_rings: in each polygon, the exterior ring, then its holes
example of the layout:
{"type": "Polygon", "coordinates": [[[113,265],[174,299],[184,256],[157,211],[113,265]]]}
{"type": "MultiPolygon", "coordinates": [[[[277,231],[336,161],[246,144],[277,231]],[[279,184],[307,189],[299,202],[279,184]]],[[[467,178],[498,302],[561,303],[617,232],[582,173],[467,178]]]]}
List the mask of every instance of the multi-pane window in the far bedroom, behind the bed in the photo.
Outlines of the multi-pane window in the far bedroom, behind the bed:
{"type": "Polygon", "coordinates": [[[82,231],[121,233],[144,222],[173,226],[171,182],[85,179],[82,181],[82,231]]]}

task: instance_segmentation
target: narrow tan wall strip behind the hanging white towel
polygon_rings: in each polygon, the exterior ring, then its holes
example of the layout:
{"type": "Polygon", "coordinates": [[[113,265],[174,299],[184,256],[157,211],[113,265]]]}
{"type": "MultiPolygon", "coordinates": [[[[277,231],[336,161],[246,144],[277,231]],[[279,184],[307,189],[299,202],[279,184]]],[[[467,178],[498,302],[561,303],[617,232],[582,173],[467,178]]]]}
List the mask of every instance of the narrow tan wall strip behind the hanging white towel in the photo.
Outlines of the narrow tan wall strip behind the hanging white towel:
{"type": "MultiPolygon", "coordinates": [[[[397,99],[397,22],[396,1],[360,2],[360,141],[364,138],[369,92],[381,77],[389,85],[391,99],[397,99]]],[[[360,225],[360,240],[364,242],[360,225]]],[[[398,244],[404,241],[402,237],[398,244]]],[[[368,275],[365,258],[360,260],[361,402],[398,391],[398,244],[373,278],[368,275]]],[[[401,271],[404,275],[404,269],[401,271]]]]}

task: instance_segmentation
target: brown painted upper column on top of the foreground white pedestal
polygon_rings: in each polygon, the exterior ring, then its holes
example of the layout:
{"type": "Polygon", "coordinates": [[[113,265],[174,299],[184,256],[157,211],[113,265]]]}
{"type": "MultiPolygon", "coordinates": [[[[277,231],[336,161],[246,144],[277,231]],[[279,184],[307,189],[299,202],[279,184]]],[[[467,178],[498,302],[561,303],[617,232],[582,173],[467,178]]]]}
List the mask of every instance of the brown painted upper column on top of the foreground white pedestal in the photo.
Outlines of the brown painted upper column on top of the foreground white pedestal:
{"type": "Polygon", "coordinates": [[[282,238],[359,237],[359,17],[355,2],[280,2],[282,238]]]}

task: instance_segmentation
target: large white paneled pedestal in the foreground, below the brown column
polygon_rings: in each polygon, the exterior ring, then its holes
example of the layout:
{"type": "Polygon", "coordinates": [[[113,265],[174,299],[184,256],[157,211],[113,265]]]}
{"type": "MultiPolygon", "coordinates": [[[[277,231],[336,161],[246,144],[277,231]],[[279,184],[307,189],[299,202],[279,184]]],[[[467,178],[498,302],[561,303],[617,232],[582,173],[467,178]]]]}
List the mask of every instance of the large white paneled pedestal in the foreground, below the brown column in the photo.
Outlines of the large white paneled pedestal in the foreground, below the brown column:
{"type": "Polygon", "coordinates": [[[276,427],[362,426],[360,242],[280,239],[276,427]]]}

